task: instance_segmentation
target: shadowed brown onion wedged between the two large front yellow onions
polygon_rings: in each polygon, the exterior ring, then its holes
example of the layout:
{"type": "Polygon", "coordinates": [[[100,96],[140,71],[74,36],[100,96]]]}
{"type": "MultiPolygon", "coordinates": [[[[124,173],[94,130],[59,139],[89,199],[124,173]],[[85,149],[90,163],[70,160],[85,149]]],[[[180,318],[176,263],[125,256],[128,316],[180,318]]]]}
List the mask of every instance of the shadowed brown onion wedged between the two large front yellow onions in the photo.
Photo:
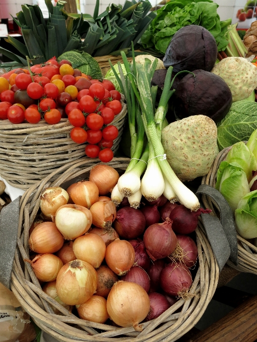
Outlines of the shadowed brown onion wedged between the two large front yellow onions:
{"type": "Polygon", "coordinates": [[[98,280],[95,294],[107,298],[113,284],[118,281],[118,276],[106,265],[101,265],[96,273],[98,280]]]}

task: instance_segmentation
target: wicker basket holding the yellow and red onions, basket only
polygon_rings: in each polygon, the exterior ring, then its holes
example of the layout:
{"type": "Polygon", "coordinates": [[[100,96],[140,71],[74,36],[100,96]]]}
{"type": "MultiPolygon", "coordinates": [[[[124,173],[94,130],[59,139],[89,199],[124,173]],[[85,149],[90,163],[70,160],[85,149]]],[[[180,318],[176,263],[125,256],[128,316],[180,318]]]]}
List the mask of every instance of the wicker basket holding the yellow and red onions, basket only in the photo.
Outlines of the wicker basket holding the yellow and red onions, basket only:
{"type": "MultiPolygon", "coordinates": [[[[112,165],[121,174],[126,169],[129,160],[114,158],[109,165],[112,165]]],[[[35,323],[43,331],[60,341],[175,341],[202,317],[218,283],[218,264],[201,223],[196,230],[199,268],[195,271],[196,276],[189,292],[191,296],[188,296],[187,300],[179,299],[158,318],[143,323],[144,330],[142,332],[136,332],[133,327],[119,328],[79,319],[41,290],[30,264],[26,263],[25,271],[23,271],[24,265],[21,260],[29,257],[29,227],[39,210],[42,190],[49,186],[67,188],[74,182],[87,179],[90,169],[96,163],[96,159],[87,158],[83,158],[79,162],[67,163],[42,182],[32,186],[22,196],[18,243],[12,273],[12,291],[35,323]],[[59,309],[63,315],[53,314],[49,303],[59,309]],[[176,312],[178,309],[180,312],[176,312]]]]}

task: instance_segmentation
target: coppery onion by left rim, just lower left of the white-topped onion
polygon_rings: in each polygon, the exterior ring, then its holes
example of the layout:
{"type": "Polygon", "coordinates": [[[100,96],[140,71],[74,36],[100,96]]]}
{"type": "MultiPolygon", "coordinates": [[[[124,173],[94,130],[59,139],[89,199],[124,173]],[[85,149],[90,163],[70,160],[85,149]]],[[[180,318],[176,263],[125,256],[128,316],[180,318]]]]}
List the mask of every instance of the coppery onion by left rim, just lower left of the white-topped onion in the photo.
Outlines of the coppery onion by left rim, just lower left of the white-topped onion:
{"type": "Polygon", "coordinates": [[[55,253],[64,243],[64,239],[53,222],[37,225],[29,238],[29,247],[36,253],[55,253]]]}

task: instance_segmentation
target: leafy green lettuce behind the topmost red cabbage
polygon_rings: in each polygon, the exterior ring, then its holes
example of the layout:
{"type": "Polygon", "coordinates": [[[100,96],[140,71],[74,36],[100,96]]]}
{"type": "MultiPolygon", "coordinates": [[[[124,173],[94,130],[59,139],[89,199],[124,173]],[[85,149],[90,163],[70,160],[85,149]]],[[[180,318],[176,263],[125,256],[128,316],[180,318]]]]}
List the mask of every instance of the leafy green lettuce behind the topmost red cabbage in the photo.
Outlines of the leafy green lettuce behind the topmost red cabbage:
{"type": "Polygon", "coordinates": [[[211,0],[171,0],[156,11],[156,18],[142,35],[143,47],[149,52],[164,55],[172,37],[181,27],[201,25],[214,36],[218,51],[225,50],[231,19],[221,22],[217,8],[218,5],[211,0]]]}

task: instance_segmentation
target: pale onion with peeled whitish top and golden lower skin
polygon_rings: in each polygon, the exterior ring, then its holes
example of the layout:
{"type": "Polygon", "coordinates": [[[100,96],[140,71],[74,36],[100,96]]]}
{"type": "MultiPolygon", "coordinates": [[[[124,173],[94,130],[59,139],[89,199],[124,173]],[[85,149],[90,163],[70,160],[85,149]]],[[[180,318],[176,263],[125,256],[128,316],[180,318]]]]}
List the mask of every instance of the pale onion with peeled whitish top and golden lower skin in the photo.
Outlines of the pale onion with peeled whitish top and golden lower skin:
{"type": "Polygon", "coordinates": [[[88,231],[92,215],[81,205],[66,204],[56,211],[54,223],[66,240],[74,240],[88,231]]]}

